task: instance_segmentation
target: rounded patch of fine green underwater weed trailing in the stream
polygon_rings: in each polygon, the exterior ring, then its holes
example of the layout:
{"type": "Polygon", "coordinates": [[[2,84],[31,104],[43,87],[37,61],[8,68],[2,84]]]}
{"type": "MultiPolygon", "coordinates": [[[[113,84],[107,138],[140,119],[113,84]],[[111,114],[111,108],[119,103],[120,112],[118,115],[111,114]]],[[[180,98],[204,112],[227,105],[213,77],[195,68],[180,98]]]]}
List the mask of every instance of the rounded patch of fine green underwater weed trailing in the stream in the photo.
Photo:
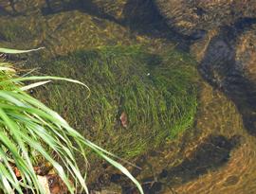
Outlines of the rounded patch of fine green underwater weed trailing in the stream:
{"type": "Polygon", "coordinates": [[[170,50],[162,55],[139,46],[101,47],[42,62],[43,72],[79,79],[35,94],[50,102],[86,138],[121,157],[153,149],[188,129],[196,112],[194,61],[170,50]],[[128,117],[127,128],[119,116],[128,117]]]}

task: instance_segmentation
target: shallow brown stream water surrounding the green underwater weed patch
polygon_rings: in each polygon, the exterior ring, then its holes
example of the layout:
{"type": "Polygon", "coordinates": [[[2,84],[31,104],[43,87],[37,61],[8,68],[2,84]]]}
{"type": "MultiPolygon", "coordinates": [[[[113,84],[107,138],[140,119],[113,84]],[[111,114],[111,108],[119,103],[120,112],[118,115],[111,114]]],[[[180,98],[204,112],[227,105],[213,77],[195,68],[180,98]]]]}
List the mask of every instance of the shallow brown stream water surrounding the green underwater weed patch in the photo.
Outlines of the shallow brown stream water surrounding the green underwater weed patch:
{"type": "MultiPolygon", "coordinates": [[[[154,54],[175,47],[198,62],[194,124],[176,139],[131,158],[139,168],[127,167],[145,193],[256,193],[253,17],[210,28],[207,35],[205,30],[188,35],[168,26],[152,1],[117,1],[110,12],[101,8],[103,1],[55,1],[51,9],[43,0],[24,2],[16,3],[15,12],[0,1],[1,25],[9,26],[0,28],[0,46],[43,45],[46,51],[10,60],[26,64],[24,60],[54,59],[81,49],[143,44],[154,54]]],[[[117,170],[96,164],[89,171],[91,190],[137,193],[117,170]]]]}

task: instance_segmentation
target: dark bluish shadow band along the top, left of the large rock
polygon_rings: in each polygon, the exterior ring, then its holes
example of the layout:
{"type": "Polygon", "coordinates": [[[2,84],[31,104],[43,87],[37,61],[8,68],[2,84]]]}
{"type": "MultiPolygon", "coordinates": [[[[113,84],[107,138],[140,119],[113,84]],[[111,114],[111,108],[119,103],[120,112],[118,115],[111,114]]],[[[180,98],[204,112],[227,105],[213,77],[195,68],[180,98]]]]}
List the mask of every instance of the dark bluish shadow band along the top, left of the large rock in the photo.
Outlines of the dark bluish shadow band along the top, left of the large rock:
{"type": "Polygon", "coordinates": [[[165,38],[176,43],[178,49],[189,51],[190,45],[203,37],[192,35],[185,36],[177,33],[174,29],[167,26],[165,19],[160,15],[155,7],[153,0],[127,0],[123,8],[123,17],[121,19],[104,12],[97,7],[92,0],[60,0],[58,4],[53,1],[46,0],[46,7],[42,9],[44,15],[56,14],[61,11],[81,10],[90,15],[101,19],[107,19],[121,26],[127,26],[131,31],[141,35],[147,35],[153,38],[165,38]]]}

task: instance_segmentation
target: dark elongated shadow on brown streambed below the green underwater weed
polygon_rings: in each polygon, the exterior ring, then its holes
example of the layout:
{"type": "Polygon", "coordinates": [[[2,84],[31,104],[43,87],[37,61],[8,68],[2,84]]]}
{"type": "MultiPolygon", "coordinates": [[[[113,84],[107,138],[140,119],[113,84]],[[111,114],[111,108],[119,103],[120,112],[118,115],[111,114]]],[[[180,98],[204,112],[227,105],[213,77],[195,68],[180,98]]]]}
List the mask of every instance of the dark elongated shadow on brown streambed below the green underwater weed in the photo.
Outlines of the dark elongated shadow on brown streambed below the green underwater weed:
{"type": "MultiPolygon", "coordinates": [[[[206,174],[210,170],[221,168],[229,162],[231,150],[237,148],[241,143],[241,136],[234,135],[227,138],[222,135],[210,135],[192,153],[192,156],[185,158],[183,162],[172,168],[165,168],[161,173],[145,178],[141,181],[145,193],[160,193],[163,188],[181,185],[206,174]]],[[[111,177],[113,183],[122,185],[123,193],[137,193],[137,188],[124,184],[125,177],[114,174],[111,177]]]]}

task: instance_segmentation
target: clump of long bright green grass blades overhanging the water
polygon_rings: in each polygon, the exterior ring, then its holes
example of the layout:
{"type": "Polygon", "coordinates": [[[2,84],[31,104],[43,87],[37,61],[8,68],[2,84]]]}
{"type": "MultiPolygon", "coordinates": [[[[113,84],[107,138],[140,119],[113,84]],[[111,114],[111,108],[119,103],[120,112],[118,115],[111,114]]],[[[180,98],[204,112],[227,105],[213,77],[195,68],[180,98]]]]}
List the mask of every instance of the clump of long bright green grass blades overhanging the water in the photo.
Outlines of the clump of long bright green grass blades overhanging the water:
{"type": "MultiPolygon", "coordinates": [[[[0,52],[4,53],[28,51],[0,48],[0,52]]],[[[85,84],[74,79],[17,77],[15,69],[8,62],[0,62],[0,188],[5,193],[14,193],[14,190],[24,193],[27,189],[33,193],[45,193],[46,190],[34,170],[39,158],[55,169],[70,193],[77,192],[79,186],[88,193],[85,185],[86,173],[82,174],[76,161],[77,153],[86,161],[86,147],[119,168],[143,193],[141,186],[128,170],[111,159],[115,157],[113,154],[86,140],[62,116],[25,92],[50,80],[77,83],[88,91],[85,84]],[[23,82],[27,80],[38,82],[24,85],[23,82]],[[19,170],[21,178],[16,176],[13,168],[19,170]]]]}

